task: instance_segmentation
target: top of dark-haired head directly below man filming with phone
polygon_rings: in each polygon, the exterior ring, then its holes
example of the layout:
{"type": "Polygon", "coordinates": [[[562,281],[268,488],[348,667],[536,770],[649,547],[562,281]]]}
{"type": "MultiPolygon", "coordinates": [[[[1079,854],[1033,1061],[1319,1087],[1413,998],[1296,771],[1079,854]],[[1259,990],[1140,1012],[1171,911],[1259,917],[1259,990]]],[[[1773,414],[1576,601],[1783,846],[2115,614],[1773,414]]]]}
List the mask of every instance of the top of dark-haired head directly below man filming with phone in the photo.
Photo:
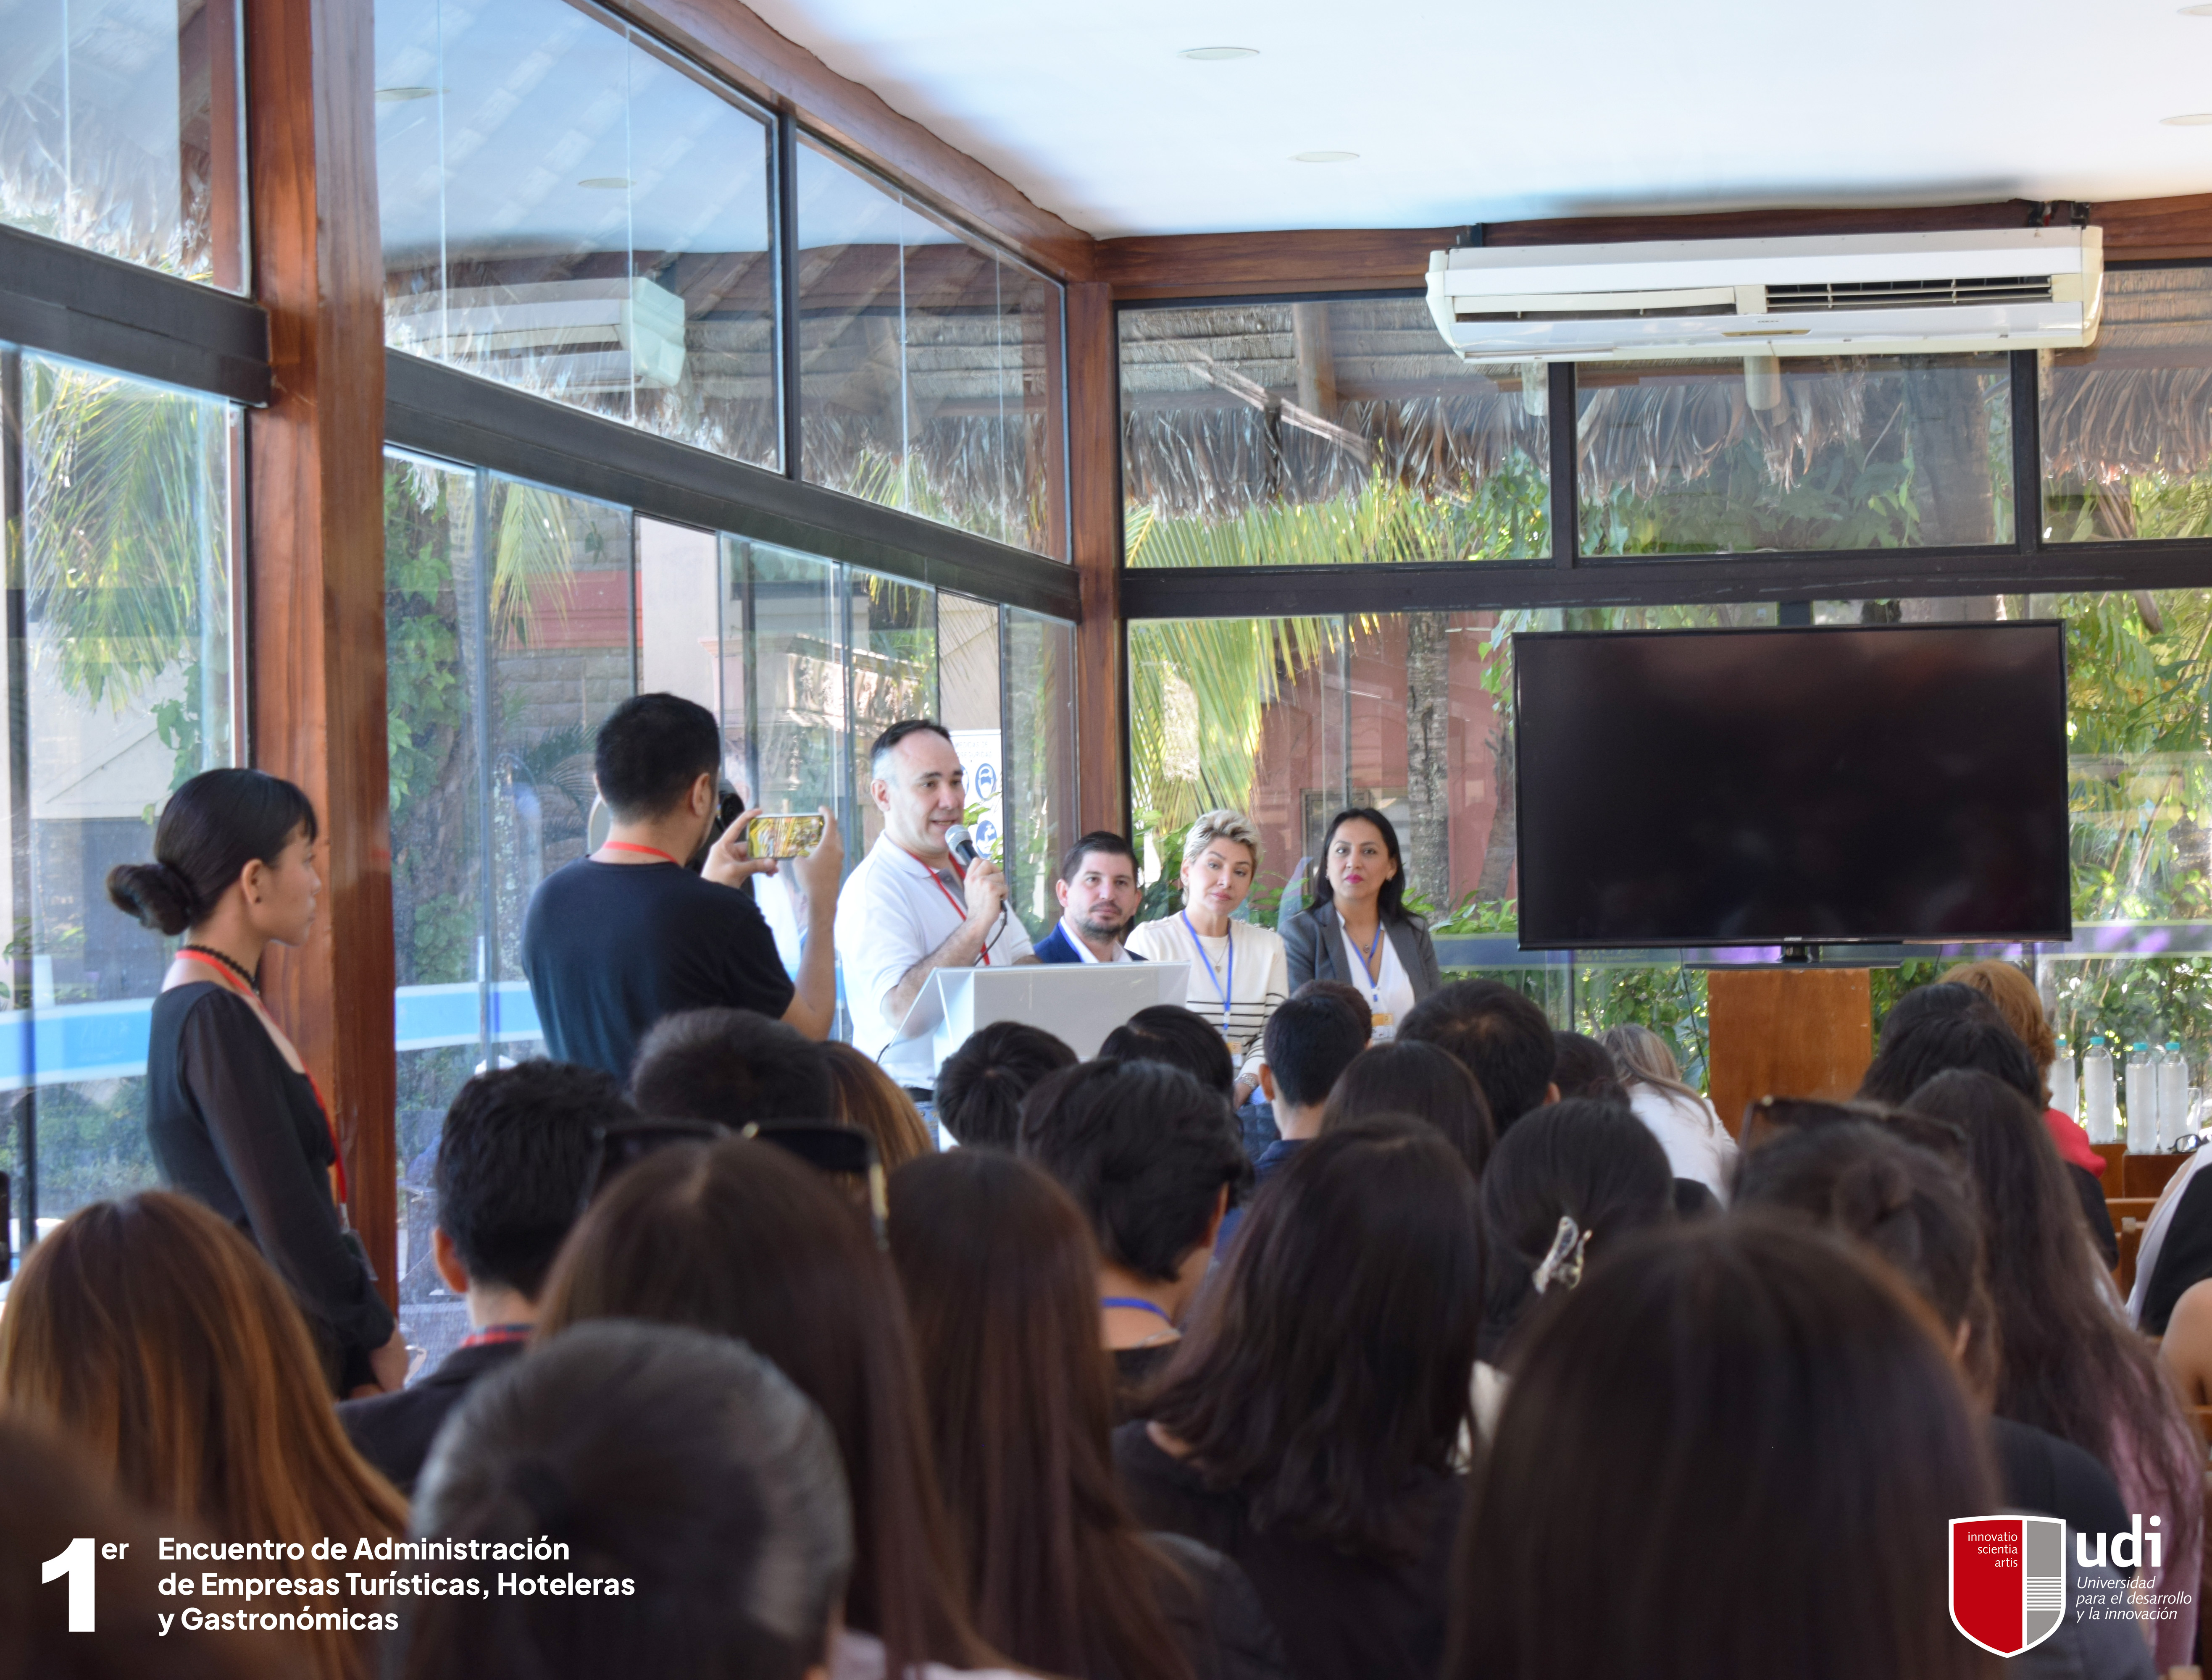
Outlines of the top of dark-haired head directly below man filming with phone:
{"type": "Polygon", "coordinates": [[[657,1121],[732,1130],[827,1121],[836,1107],[821,1046],[754,1010],[684,1010],[637,1046],[630,1101],[657,1121]]]}

